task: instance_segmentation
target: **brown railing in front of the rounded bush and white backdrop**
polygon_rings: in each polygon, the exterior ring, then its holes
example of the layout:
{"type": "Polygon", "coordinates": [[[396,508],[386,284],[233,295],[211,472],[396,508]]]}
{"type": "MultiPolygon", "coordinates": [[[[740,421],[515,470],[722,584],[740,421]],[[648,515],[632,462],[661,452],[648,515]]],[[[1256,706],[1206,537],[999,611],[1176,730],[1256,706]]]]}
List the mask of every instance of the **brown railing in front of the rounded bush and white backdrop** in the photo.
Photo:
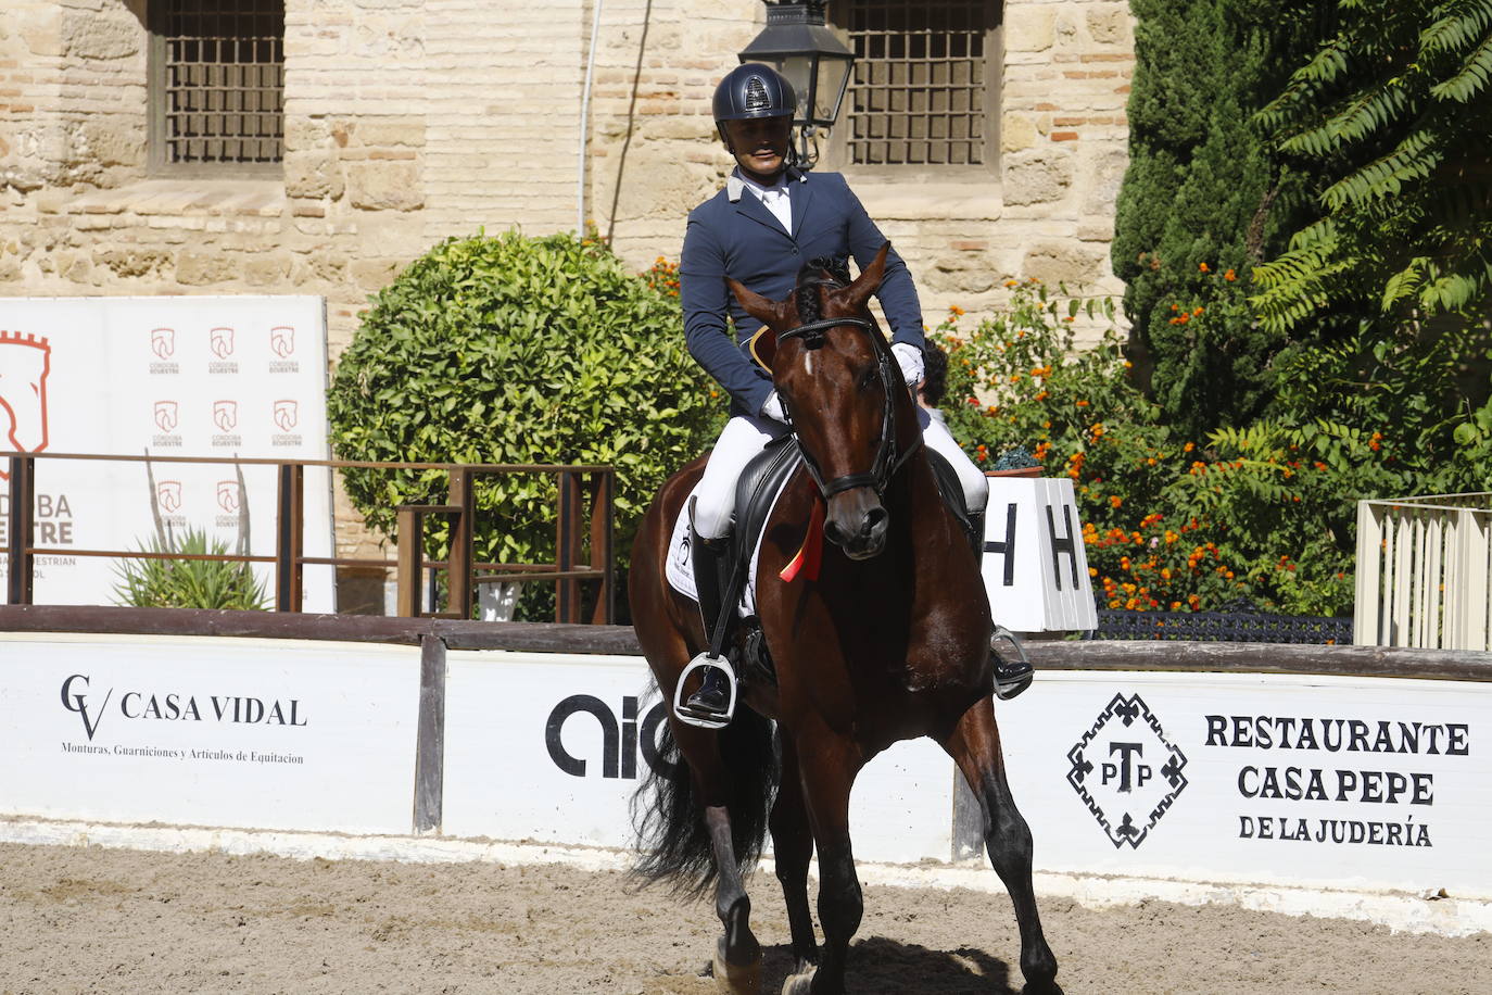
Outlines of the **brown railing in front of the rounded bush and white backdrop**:
{"type": "Polygon", "coordinates": [[[34,565],[39,555],[104,556],[112,559],[179,559],[273,564],[275,610],[300,612],[303,571],[307,565],[330,567],[394,567],[398,585],[397,613],[401,618],[471,618],[479,583],[525,582],[555,585],[555,621],[609,625],[615,619],[616,550],[613,547],[613,516],[616,471],[609,465],[546,465],[546,464],[455,464],[455,462],[364,462],[339,459],[242,459],[213,456],[122,456],[100,453],[3,453],[9,459],[10,522],[6,539],[7,603],[31,604],[34,565]],[[36,543],[36,461],[98,461],[157,464],[215,464],[233,467],[276,467],[278,495],[275,515],[275,555],[240,553],[178,553],[125,549],[76,549],[36,543]],[[398,546],[395,559],[306,555],[306,467],[369,468],[369,470],[440,470],[449,474],[445,504],[407,504],[397,507],[398,546]],[[474,483],[494,474],[552,474],[558,483],[555,509],[555,561],[542,564],[476,562],[474,483]],[[586,507],[588,506],[588,507],[586,507]],[[589,515],[586,515],[586,510],[589,515]],[[445,515],[451,519],[451,553],[445,561],[424,559],[424,519],[445,515]],[[589,559],[583,561],[585,540],[589,539],[589,559]],[[424,606],[422,574],[428,570],[446,571],[446,610],[424,606]],[[495,573],[494,573],[495,571],[495,573]],[[582,619],[582,582],[598,582],[589,618],[582,619]]]}

